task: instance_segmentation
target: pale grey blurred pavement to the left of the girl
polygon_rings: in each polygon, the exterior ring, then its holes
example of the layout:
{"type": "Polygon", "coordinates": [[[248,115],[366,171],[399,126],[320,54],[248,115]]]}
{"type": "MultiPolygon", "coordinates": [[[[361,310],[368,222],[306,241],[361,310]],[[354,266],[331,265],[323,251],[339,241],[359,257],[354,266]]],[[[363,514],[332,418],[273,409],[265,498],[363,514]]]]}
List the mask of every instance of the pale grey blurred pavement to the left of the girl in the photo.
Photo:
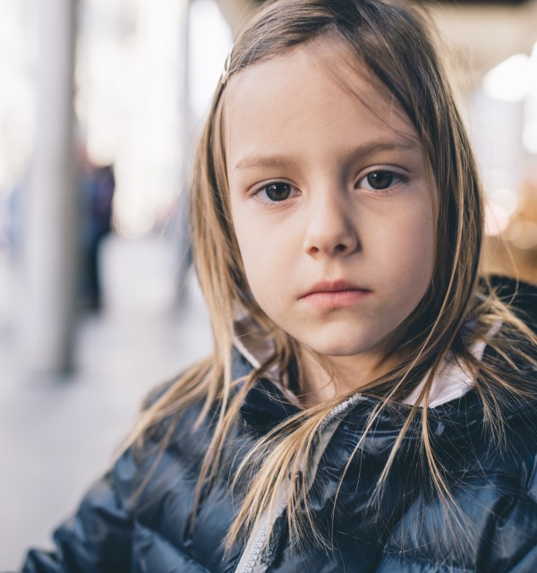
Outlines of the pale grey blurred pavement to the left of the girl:
{"type": "Polygon", "coordinates": [[[106,245],[105,309],[81,321],[71,376],[24,376],[0,324],[1,571],[19,570],[29,547],[51,546],[149,389],[209,353],[193,278],[176,302],[174,256],[163,241],[106,245]]]}

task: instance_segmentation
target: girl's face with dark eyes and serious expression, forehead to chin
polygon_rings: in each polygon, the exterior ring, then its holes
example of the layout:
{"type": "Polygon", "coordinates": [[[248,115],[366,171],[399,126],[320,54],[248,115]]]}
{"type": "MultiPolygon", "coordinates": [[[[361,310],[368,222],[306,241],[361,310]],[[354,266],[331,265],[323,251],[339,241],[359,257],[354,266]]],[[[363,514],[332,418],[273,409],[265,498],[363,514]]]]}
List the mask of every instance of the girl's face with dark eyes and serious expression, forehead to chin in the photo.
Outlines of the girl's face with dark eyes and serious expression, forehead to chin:
{"type": "Polygon", "coordinates": [[[260,308],[321,355],[378,363],[430,285],[435,210],[396,103],[316,41],[226,91],[234,230],[260,308]]]}

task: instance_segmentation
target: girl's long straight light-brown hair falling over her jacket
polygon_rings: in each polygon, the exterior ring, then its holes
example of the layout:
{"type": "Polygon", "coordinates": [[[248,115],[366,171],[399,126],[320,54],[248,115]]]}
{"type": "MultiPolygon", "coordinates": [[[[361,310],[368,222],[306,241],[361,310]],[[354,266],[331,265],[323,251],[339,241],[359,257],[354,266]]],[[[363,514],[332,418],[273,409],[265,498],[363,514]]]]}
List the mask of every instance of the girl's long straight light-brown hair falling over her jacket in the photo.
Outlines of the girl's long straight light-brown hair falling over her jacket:
{"type": "MultiPolygon", "coordinates": [[[[202,489],[217,476],[226,438],[248,390],[271,368],[285,372],[296,355],[295,342],[261,311],[245,278],[228,199],[223,133],[226,85],[249,66],[284,55],[316,38],[343,41],[352,50],[356,64],[369,70],[381,89],[405,112],[421,141],[431,183],[437,190],[435,262],[430,286],[406,321],[405,340],[392,349],[405,359],[361,388],[362,394],[378,398],[371,427],[379,410],[400,403],[419,381],[426,379],[416,404],[408,408],[387,466],[379,476],[378,492],[386,482],[405,432],[419,418],[423,458],[431,482],[444,498],[450,499],[431,446],[427,414],[432,381],[448,354],[464,365],[466,372],[471,372],[474,387],[482,398],[485,423],[498,439],[502,433],[502,399],[525,391],[524,377],[517,377],[517,360],[513,357],[532,361],[528,349],[535,339],[524,322],[494,294],[486,279],[480,282],[482,191],[473,153],[429,29],[422,12],[404,4],[382,0],[276,0],[261,8],[235,41],[200,139],[191,185],[194,262],[209,307],[214,351],[141,415],[130,440],[143,444],[150,428],[166,418],[180,417],[184,407],[192,402],[204,404],[199,421],[209,412],[214,415],[216,409],[216,426],[201,468],[195,503],[202,489]],[[241,380],[234,380],[231,364],[237,311],[247,312],[273,344],[273,352],[265,363],[241,380]],[[473,329],[463,337],[463,325],[470,319],[473,329]],[[501,329],[490,337],[490,329],[499,323],[501,329]],[[512,371],[509,376],[499,363],[480,362],[472,355],[469,346],[476,340],[485,341],[505,359],[512,371]]],[[[315,523],[308,521],[307,503],[303,504],[309,487],[303,470],[323,421],[334,406],[349,396],[303,408],[253,447],[242,467],[256,462],[256,471],[242,496],[228,544],[251,530],[263,511],[273,510],[278,492],[284,490],[291,535],[295,539],[304,535],[304,505],[305,519],[316,534],[315,523]]]]}

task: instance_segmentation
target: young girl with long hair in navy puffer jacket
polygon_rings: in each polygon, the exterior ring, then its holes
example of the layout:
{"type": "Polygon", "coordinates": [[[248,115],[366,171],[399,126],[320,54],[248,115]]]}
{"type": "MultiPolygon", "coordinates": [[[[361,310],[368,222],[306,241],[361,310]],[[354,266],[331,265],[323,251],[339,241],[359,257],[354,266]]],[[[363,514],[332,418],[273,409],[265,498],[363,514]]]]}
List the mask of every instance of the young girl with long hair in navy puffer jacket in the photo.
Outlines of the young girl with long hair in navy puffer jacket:
{"type": "Polygon", "coordinates": [[[25,572],[537,570],[535,291],[478,276],[473,157],[413,10],[263,8],[192,228],[214,353],[25,572]]]}

